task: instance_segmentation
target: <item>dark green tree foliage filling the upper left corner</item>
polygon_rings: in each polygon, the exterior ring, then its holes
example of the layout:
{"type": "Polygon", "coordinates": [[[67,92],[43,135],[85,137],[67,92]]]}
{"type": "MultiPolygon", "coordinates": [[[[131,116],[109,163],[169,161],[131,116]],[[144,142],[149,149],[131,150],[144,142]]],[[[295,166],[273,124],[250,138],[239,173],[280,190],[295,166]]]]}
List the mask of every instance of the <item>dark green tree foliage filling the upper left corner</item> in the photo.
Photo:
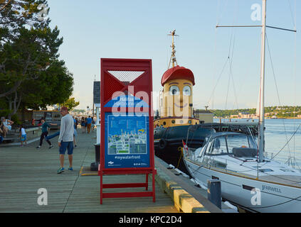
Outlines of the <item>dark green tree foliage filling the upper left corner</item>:
{"type": "Polygon", "coordinates": [[[0,0],[0,109],[46,108],[66,101],[73,74],[58,49],[58,28],[42,18],[46,0],[0,0]]]}

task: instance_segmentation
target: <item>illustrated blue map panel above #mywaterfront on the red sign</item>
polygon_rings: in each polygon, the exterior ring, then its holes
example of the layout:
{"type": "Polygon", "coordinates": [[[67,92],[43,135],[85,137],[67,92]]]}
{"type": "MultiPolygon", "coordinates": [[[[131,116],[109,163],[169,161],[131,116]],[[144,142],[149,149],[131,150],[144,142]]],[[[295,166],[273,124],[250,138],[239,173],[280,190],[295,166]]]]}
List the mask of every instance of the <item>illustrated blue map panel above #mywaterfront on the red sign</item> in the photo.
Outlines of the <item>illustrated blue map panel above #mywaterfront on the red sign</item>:
{"type": "Polygon", "coordinates": [[[147,154],[147,116],[107,116],[107,154],[147,154]]]}

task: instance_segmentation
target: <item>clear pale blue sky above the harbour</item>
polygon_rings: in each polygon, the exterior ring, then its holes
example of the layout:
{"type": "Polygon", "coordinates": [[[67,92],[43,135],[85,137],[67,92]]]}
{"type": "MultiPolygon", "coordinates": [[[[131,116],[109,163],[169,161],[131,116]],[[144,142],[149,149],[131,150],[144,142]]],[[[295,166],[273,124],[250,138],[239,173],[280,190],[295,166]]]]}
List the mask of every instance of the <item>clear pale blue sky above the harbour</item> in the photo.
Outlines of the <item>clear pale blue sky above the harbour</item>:
{"type": "MultiPolygon", "coordinates": [[[[101,57],[152,59],[153,89],[161,90],[161,77],[171,54],[171,37],[167,34],[174,29],[180,35],[176,38],[177,62],[192,70],[196,79],[194,107],[236,109],[257,105],[261,29],[216,29],[215,26],[217,22],[220,25],[259,25],[260,21],[251,20],[251,6],[261,5],[261,2],[49,0],[48,5],[51,27],[58,26],[64,39],[60,58],[73,73],[73,96],[80,101],[77,109],[93,106],[93,81],[95,75],[96,80],[100,80],[101,57]],[[231,57],[233,50],[233,79],[229,64],[221,74],[229,49],[231,57]]],[[[293,29],[295,10],[298,15],[301,9],[301,2],[297,1],[297,6],[295,3],[295,0],[268,0],[268,25],[293,29]]],[[[300,19],[296,22],[298,30],[300,19]]],[[[280,104],[301,105],[300,35],[270,28],[267,35],[280,104]]],[[[265,106],[274,106],[279,101],[268,50],[266,62],[265,106]]]]}

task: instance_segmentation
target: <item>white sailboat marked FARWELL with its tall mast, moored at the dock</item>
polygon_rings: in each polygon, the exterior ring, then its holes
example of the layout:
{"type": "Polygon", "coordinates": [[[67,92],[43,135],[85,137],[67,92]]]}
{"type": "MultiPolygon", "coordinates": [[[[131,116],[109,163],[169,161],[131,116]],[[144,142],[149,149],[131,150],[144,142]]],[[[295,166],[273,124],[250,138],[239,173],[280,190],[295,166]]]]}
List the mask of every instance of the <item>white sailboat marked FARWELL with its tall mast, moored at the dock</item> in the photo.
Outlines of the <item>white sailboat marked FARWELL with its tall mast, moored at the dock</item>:
{"type": "Polygon", "coordinates": [[[191,176],[205,185],[208,179],[219,179],[223,199],[244,209],[301,212],[300,170],[264,157],[265,29],[270,27],[265,21],[263,0],[258,144],[252,135],[212,133],[204,147],[184,149],[184,162],[191,176]]]}

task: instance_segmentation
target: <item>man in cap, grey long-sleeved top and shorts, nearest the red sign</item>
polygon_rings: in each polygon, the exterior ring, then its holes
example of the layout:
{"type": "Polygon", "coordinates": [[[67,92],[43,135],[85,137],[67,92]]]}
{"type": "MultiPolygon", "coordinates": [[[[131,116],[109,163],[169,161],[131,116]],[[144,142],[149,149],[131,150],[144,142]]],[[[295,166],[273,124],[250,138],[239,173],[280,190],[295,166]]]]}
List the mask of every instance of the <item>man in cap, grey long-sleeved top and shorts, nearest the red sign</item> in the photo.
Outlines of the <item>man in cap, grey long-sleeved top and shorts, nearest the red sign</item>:
{"type": "Polygon", "coordinates": [[[58,137],[58,147],[60,152],[60,168],[57,173],[64,172],[64,159],[65,151],[68,150],[69,168],[73,170],[73,134],[74,134],[74,121],[73,117],[69,114],[68,108],[63,106],[60,109],[60,114],[63,116],[60,120],[60,136],[58,137]]]}

